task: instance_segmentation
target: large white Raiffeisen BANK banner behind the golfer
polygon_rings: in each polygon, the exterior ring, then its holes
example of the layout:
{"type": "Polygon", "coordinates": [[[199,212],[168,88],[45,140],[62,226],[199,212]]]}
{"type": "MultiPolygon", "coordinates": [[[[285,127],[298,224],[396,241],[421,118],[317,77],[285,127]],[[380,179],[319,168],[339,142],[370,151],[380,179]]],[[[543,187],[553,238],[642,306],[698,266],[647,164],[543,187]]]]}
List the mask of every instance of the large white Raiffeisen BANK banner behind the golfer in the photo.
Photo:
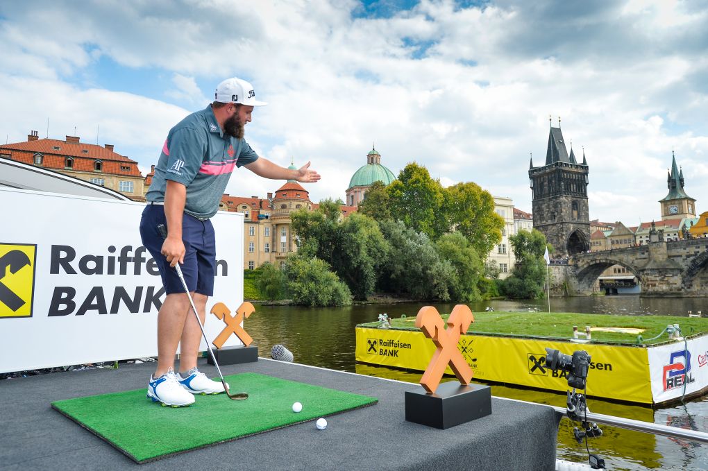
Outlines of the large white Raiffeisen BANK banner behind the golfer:
{"type": "MultiPolygon", "coordinates": [[[[0,373],[156,356],[164,289],[140,240],[144,207],[0,187],[0,373]]],[[[244,296],[243,215],[219,211],[212,223],[210,339],[226,327],[212,306],[233,315],[244,296]]]]}

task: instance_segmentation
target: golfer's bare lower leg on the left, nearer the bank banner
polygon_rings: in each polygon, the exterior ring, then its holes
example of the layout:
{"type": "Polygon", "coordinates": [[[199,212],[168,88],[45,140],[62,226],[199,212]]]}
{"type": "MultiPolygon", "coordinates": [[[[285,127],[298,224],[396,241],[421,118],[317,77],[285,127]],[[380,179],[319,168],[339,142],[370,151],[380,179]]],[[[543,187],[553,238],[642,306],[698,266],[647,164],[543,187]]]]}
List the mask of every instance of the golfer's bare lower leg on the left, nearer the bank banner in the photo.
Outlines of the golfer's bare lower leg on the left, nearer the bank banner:
{"type": "Polygon", "coordinates": [[[154,378],[164,375],[169,368],[174,367],[177,345],[189,309],[186,293],[165,296],[165,302],[157,314],[157,370],[154,378]]]}

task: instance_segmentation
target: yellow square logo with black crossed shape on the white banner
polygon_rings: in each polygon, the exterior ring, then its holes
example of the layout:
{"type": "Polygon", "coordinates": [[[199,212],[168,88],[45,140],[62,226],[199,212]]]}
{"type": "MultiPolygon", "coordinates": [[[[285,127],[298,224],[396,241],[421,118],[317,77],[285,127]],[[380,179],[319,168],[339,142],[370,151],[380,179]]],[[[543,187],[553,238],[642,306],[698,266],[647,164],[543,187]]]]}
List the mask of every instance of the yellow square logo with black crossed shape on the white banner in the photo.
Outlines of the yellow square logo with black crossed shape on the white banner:
{"type": "Polygon", "coordinates": [[[0,319],[32,317],[37,245],[0,244],[0,319]]]}

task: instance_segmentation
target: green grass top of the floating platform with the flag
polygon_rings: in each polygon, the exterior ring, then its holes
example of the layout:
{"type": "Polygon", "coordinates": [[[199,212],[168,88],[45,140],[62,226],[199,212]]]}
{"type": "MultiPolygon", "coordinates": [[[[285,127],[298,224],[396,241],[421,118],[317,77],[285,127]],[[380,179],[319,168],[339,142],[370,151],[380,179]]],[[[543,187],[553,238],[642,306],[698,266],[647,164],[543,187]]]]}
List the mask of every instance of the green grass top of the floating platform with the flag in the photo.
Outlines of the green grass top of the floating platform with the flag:
{"type": "MultiPolygon", "coordinates": [[[[447,314],[442,318],[447,319],[447,314]]],[[[416,315],[391,319],[394,329],[418,330],[416,315]]],[[[510,335],[522,337],[552,337],[570,339],[573,326],[585,332],[589,325],[593,342],[651,345],[666,342],[668,335],[660,335],[667,325],[678,324],[684,336],[708,333],[708,318],[685,318],[675,315],[604,315],[581,313],[541,312],[481,312],[474,313],[474,323],[468,333],[510,335]],[[607,329],[607,330],[597,330],[607,329]],[[636,331],[634,331],[636,329],[636,331]],[[641,337],[640,337],[641,336],[641,337]],[[653,337],[657,337],[652,339],[653,337]]],[[[379,322],[362,324],[377,327],[379,322]]],[[[581,339],[583,340],[583,339],[581,339]]]]}

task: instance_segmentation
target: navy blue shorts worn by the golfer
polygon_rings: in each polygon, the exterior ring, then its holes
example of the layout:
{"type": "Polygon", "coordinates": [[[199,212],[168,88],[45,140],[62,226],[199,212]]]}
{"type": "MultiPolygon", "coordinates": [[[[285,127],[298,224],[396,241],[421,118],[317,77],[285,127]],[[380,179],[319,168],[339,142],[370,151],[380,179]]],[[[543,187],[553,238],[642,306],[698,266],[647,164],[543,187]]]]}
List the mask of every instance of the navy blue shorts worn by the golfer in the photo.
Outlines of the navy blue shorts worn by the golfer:
{"type": "MultiPolygon", "coordinates": [[[[161,204],[148,204],[142,211],[140,236],[142,244],[155,259],[162,284],[167,294],[184,293],[184,286],[175,269],[160,252],[164,239],[157,230],[158,224],[167,227],[165,207],[161,204]]],[[[182,241],[186,249],[184,263],[180,265],[189,291],[205,296],[214,294],[214,275],[216,267],[216,243],[214,227],[207,219],[200,219],[184,214],[182,217],[182,241]]]]}

